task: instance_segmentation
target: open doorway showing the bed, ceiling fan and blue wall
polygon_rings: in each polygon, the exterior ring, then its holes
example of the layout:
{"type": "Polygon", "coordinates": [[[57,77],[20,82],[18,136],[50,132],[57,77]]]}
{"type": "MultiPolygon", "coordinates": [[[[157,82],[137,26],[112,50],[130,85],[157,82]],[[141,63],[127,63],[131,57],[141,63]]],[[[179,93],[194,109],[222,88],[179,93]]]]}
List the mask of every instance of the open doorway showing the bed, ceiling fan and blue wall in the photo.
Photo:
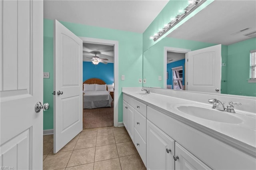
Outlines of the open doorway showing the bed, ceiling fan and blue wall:
{"type": "Polygon", "coordinates": [[[118,63],[118,42],[80,38],[83,40],[83,82],[90,86],[96,84],[93,89],[94,92],[89,88],[90,91],[87,91],[86,94],[88,92],[101,93],[101,88],[106,88],[104,90],[108,93],[105,97],[103,95],[90,96],[89,98],[92,101],[83,101],[83,129],[117,127],[118,99],[115,97],[117,95],[115,91],[118,87],[118,73],[117,64],[115,63],[118,63]],[[99,99],[99,97],[104,99],[99,99]]]}

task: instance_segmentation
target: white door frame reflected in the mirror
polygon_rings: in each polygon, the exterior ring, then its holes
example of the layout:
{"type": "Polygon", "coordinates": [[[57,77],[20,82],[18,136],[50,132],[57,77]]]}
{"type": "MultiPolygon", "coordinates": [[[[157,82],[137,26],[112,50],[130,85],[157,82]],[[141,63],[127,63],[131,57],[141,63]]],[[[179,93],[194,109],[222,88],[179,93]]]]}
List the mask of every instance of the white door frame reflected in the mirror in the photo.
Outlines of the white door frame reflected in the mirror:
{"type": "Polygon", "coordinates": [[[188,81],[188,73],[187,73],[187,59],[188,59],[188,52],[191,51],[191,49],[185,49],[185,48],[175,48],[175,47],[164,47],[164,89],[167,87],[167,79],[166,79],[166,70],[167,70],[167,51],[172,51],[174,53],[185,53],[185,87],[186,82],[188,81]]]}

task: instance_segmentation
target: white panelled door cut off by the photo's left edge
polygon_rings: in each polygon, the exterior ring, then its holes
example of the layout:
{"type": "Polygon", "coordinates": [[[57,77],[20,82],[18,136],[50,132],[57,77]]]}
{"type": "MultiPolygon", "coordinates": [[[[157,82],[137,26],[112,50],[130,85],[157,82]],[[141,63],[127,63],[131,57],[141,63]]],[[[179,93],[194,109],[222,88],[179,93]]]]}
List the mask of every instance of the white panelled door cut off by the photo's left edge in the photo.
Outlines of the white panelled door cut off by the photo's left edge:
{"type": "Polygon", "coordinates": [[[42,169],[43,1],[0,0],[0,168],[42,169]]]}

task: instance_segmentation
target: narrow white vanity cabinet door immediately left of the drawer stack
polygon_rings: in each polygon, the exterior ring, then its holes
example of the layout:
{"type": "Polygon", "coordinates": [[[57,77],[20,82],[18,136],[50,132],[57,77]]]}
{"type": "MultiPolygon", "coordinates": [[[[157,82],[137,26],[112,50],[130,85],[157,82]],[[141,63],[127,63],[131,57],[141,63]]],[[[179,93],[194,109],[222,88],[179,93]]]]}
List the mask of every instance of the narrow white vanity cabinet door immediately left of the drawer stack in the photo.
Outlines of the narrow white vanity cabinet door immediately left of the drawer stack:
{"type": "Polygon", "coordinates": [[[134,108],[127,103],[127,132],[134,142],[134,108]]]}

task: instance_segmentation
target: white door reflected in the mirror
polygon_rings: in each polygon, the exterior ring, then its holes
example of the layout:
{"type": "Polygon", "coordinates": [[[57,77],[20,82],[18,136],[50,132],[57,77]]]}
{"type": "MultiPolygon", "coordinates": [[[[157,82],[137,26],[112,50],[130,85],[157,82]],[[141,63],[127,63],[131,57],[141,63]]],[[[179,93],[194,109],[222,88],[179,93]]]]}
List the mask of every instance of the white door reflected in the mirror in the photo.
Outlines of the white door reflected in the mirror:
{"type": "Polygon", "coordinates": [[[188,90],[220,93],[221,44],[188,52],[188,90]]]}

